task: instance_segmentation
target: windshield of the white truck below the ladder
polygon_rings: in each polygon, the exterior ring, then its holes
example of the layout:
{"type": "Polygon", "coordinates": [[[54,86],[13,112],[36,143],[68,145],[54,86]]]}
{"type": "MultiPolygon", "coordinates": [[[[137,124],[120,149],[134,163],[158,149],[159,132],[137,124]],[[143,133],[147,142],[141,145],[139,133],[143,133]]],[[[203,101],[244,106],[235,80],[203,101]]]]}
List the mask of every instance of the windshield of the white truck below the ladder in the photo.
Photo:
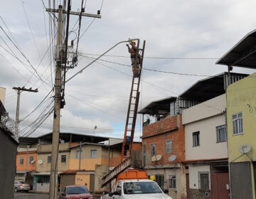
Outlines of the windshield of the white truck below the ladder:
{"type": "Polygon", "coordinates": [[[124,194],[162,193],[154,182],[129,182],[124,183],[124,194]]]}

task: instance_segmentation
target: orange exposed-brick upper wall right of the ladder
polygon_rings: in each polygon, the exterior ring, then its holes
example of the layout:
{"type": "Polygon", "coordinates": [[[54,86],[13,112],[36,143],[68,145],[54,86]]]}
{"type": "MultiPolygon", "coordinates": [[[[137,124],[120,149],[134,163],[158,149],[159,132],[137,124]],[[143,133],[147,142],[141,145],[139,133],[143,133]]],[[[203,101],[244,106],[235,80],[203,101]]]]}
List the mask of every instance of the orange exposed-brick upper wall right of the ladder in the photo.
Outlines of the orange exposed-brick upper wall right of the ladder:
{"type": "Polygon", "coordinates": [[[181,163],[185,160],[185,130],[181,120],[181,115],[176,115],[143,127],[142,144],[146,144],[146,165],[181,163]],[[172,129],[176,130],[169,131],[172,129]],[[161,132],[166,133],[159,134],[161,132]],[[172,141],[170,154],[166,154],[167,140],[172,141]],[[162,157],[160,161],[151,162],[151,144],[156,144],[156,154],[161,154],[162,157]],[[176,155],[176,159],[169,161],[168,158],[172,155],[176,155]]]}

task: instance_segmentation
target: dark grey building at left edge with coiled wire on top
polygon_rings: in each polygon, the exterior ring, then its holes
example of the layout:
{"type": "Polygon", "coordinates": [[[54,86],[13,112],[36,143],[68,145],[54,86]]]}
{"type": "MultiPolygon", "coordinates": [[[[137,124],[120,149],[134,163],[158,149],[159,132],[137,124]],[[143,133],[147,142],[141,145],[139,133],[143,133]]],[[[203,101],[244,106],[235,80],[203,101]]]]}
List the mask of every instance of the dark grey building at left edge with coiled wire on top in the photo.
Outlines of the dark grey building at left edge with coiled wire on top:
{"type": "Polygon", "coordinates": [[[16,153],[18,141],[6,126],[6,110],[0,99],[0,192],[1,198],[14,198],[14,178],[16,173],[16,153]]]}

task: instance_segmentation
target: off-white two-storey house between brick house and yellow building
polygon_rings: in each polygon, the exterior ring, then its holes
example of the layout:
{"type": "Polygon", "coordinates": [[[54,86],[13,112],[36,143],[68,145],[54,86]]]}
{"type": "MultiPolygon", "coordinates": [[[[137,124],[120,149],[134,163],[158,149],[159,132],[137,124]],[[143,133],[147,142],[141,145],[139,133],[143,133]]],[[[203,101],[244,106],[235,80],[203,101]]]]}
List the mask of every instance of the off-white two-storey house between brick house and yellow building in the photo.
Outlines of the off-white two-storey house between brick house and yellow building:
{"type": "Polygon", "coordinates": [[[225,94],[183,110],[188,198],[228,199],[225,94]]]}

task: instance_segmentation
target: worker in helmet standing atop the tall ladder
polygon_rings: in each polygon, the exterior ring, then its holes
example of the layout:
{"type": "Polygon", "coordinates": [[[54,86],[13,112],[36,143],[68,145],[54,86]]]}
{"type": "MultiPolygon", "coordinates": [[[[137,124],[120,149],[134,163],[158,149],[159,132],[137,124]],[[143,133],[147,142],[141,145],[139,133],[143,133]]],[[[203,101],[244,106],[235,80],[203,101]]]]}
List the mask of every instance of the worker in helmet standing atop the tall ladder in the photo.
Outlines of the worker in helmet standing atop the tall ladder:
{"type": "Polygon", "coordinates": [[[139,77],[139,71],[140,71],[139,65],[141,63],[141,55],[139,55],[139,48],[137,48],[135,41],[131,41],[130,45],[132,45],[132,48],[130,48],[129,44],[127,44],[128,51],[131,54],[132,71],[135,72],[135,77],[139,77]],[[136,54],[138,55],[137,63],[136,63],[136,54]]]}

